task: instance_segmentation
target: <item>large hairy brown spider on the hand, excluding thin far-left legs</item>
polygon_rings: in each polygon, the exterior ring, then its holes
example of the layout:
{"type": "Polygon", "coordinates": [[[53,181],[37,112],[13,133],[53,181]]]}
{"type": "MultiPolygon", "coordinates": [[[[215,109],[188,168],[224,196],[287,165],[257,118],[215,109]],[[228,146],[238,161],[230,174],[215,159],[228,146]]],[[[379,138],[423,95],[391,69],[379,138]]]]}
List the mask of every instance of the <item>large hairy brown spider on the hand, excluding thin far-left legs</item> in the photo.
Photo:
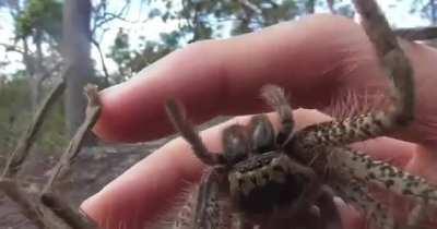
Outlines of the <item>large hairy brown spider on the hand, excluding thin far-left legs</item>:
{"type": "Polygon", "coordinates": [[[437,207],[437,186],[347,147],[405,128],[414,111],[413,71],[397,38],[374,1],[356,0],[355,4],[391,81],[392,105],[293,132],[292,108],[283,91],[267,85],[262,96],[279,113],[279,133],[265,116],[255,116],[247,125],[225,129],[224,153],[213,154],[181,106],[170,100],[166,108],[174,125],[196,156],[212,167],[201,179],[192,217],[177,220],[176,228],[294,228],[304,217],[310,219],[306,227],[341,228],[330,190],[362,209],[371,228],[424,225],[427,210],[437,207]],[[409,217],[395,218],[387,203],[374,196],[374,189],[411,200],[409,217]]]}

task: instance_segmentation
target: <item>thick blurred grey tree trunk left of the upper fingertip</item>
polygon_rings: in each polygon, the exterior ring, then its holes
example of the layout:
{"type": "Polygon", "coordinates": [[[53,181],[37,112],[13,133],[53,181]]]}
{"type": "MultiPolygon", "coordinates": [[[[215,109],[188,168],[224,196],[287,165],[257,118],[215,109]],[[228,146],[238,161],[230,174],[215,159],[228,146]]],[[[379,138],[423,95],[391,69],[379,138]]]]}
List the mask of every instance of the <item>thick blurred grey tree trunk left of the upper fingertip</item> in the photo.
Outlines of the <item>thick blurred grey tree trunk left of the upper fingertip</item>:
{"type": "Polygon", "coordinates": [[[62,56],[66,61],[66,118],[67,130],[74,134],[84,119],[86,99],[83,87],[92,82],[94,70],[91,49],[90,0],[66,0],[62,22],[62,56]]]}

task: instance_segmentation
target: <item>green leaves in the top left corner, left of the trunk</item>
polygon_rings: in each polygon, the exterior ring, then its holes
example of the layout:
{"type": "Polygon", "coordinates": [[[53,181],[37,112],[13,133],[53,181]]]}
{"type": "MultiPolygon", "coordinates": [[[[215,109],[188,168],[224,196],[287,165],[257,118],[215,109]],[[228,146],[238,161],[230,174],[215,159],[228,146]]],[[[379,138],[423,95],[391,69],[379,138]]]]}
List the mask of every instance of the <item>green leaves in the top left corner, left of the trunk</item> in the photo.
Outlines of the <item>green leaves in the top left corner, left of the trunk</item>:
{"type": "Polygon", "coordinates": [[[29,37],[40,32],[59,41],[62,3],[57,0],[28,0],[15,17],[16,37],[29,37]]]}

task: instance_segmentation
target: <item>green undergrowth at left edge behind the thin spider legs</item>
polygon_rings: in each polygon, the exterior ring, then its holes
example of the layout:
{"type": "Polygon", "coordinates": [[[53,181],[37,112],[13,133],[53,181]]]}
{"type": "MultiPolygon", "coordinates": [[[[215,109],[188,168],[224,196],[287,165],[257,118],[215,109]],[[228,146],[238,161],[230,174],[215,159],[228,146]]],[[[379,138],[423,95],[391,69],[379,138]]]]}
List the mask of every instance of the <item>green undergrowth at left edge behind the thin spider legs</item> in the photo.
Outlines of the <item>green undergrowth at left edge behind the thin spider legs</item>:
{"type": "MultiPolygon", "coordinates": [[[[48,87],[50,85],[45,86],[46,91],[48,87]]],[[[28,109],[29,96],[28,83],[22,71],[0,85],[0,154],[11,152],[31,123],[34,111],[28,109]]],[[[62,108],[62,103],[58,103],[46,117],[37,140],[38,149],[56,152],[67,143],[62,108]]]]}

